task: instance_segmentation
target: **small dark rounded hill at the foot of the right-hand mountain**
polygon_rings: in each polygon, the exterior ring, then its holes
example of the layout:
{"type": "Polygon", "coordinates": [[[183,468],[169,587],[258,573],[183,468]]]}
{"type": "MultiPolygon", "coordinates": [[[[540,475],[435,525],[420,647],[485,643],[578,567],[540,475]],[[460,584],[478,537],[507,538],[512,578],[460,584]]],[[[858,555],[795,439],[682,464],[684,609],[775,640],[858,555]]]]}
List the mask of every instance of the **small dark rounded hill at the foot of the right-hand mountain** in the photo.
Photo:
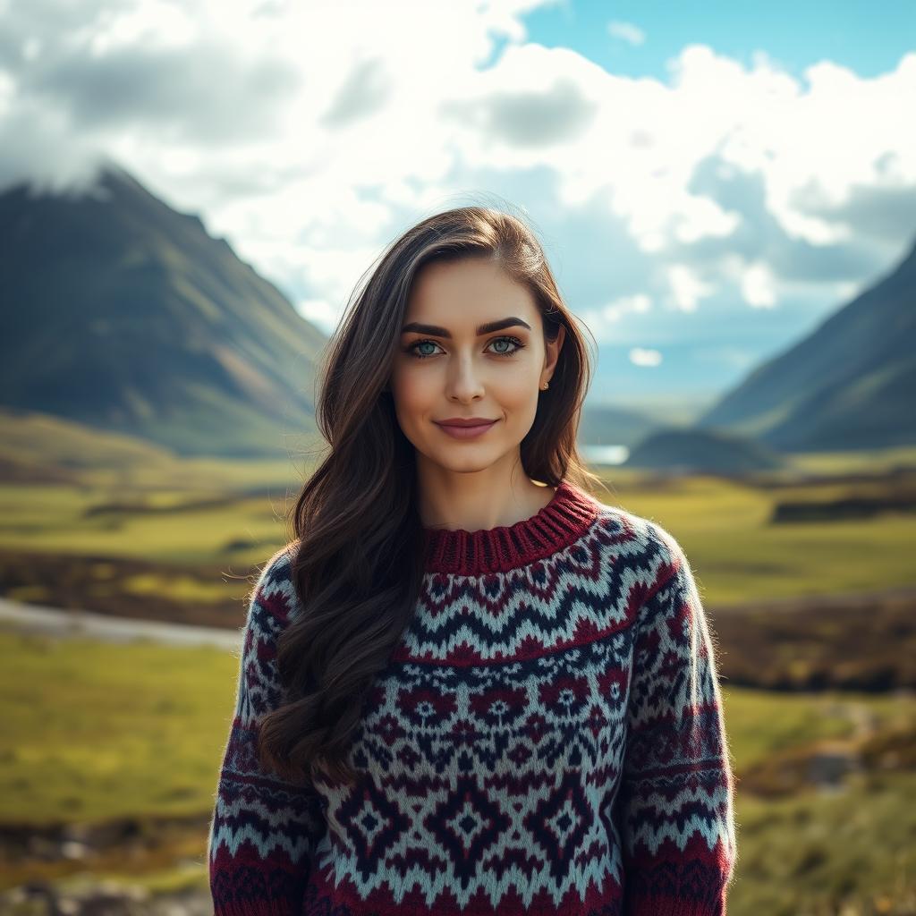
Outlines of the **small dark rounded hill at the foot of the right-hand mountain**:
{"type": "Polygon", "coordinates": [[[660,430],[632,449],[623,467],[658,468],[682,474],[747,474],[785,466],[759,442],[721,431],[660,430]]]}

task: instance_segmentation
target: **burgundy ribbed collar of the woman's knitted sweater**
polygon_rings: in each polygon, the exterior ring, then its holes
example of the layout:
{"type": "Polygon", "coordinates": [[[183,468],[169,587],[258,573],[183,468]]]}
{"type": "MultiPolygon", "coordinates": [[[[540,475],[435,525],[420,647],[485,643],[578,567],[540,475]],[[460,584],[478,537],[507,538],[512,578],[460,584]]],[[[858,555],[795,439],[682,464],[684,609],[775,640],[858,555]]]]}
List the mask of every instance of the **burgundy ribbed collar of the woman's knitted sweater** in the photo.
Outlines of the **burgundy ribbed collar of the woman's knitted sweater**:
{"type": "Polygon", "coordinates": [[[515,525],[465,531],[424,528],[428,573],[505,573],[578,540],[601,509],[593,496],[561,481],[551,501],[515,525]]]}

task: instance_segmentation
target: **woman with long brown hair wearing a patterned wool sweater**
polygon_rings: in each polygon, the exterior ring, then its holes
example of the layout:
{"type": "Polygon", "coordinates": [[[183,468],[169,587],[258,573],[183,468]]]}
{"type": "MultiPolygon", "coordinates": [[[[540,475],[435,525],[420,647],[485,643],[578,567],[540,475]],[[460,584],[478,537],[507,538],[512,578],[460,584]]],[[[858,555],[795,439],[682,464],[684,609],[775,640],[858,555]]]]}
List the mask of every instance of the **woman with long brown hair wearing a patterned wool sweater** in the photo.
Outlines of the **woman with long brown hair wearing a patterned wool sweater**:
{"type": "Polygon", "coordinates": [[[382,257],[249,603],[216,916],[725,913],[710,631],[671,534],[585,489],[589,371],[517,217],[439,213],[382,257]]]}

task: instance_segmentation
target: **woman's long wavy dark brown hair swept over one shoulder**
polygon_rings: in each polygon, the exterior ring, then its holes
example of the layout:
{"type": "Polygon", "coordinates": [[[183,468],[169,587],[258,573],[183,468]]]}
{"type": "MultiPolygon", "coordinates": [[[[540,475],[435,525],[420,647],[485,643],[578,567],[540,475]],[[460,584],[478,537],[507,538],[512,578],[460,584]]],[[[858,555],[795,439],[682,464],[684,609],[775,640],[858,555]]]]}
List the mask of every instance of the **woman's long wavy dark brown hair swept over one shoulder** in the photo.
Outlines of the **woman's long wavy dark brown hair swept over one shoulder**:
{"type": "Polygon", "coordinates": [[[493,258],[527,286],[544,339],[566,329],[551,386],[521,442],[529,478],[555,486],[601,481],[576,448],[591,362],[543,249],[520,217],[491,207],[436,213],[383,252],[354,290],[319,371],[318,427],[330,451],[291,515],[292,578],[304,613],[278,640],[287,701],[261,724],[263,764],[290,780],[353,784],[346,760],[376,672],[385,668],[412,616],[424,571],[416,454],[387,388],[409,293],[421,267],[493,258]]]}

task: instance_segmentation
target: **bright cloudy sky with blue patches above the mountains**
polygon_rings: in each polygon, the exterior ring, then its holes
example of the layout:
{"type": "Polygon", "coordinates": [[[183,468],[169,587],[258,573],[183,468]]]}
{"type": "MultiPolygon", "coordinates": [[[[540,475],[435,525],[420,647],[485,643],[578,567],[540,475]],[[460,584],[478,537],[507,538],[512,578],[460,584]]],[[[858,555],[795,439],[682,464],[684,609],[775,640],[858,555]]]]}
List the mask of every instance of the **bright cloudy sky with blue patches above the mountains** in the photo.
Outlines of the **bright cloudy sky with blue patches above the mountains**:
{"type": "Polygon", "coordinates": [[[590,402],[701,403],[916,241],[916,5],[0,0],[0,191],[112,158],[325,333],[384,248],[528,220],[590,402]]]}

